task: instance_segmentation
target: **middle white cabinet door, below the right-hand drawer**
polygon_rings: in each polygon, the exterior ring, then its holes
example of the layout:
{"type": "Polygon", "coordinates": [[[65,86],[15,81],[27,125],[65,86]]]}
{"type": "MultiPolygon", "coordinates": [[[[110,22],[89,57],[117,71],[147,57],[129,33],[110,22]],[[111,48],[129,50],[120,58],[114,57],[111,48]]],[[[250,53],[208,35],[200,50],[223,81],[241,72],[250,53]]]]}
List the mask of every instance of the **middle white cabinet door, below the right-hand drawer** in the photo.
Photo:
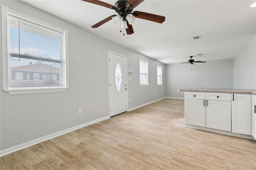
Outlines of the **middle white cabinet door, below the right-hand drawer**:
{"type": "Polygon", "coordinates": [[[230,101],[207,101],[206,127],[231,131],[230,101]]]}

